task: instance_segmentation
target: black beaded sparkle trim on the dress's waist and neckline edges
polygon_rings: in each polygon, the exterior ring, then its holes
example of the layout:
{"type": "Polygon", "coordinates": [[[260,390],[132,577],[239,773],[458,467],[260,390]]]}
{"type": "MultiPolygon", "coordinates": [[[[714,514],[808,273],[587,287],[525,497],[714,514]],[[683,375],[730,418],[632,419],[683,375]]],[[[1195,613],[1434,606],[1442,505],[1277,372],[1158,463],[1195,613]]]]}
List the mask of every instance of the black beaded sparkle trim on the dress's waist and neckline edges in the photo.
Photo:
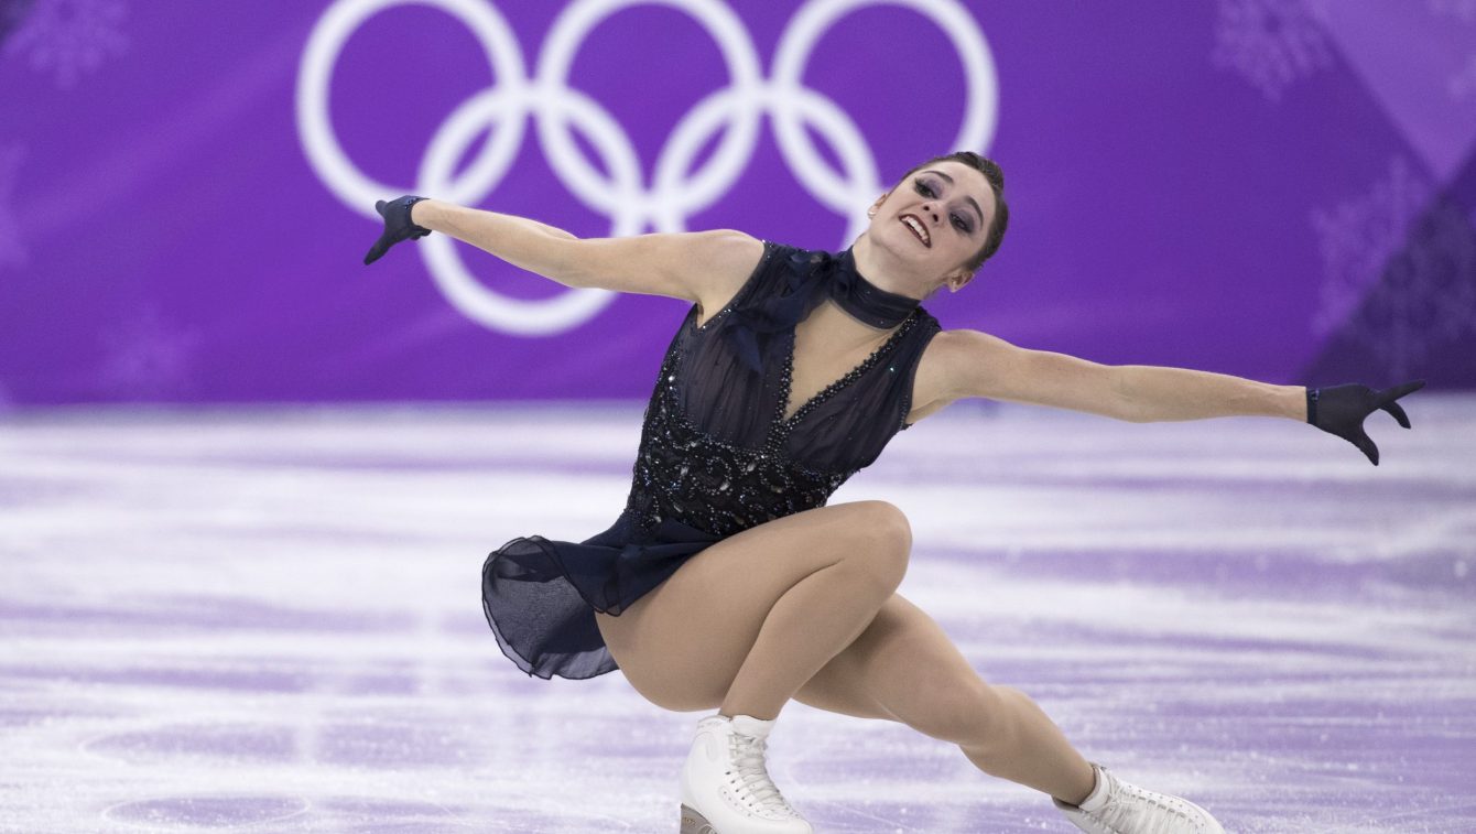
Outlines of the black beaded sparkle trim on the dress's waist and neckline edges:
{"type": "MultiPolygon", "coordinates": [[[[729,307],[701,328],[694,328],[706,329],[729,307]]],[[[881,362],[917,322],[918,316],[908,316],[865,362],[784,419],[794,375],[791,331],[785,337],[787,357],[779,379],[778,406],[759,449],[713,437],[682,413],[676,379],[680,340],[675,340],[646,406],[626,514],[646,531],[654,530],[663,518],[673,518],[728,537],[775,518],[824,506],[831,493],[859,469],[827,471],[796,461],[785,450],[790,432],[821,403],[881,362]]]]}

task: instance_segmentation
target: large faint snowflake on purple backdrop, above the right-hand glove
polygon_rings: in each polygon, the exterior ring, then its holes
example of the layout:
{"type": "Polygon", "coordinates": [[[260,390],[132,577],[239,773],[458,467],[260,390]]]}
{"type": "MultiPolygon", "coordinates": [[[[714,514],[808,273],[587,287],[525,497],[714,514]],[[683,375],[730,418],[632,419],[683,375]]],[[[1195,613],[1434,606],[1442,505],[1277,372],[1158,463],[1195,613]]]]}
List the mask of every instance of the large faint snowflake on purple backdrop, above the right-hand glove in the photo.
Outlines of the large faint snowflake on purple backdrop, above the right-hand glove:
{"type": "Polygon", "coordinates": [[[1314,211],[1324,280],[1312,332],[1343,331],[1395,375],[1476,332],[1476,233],[1401,156],[1362,198],[1314,211]]]}

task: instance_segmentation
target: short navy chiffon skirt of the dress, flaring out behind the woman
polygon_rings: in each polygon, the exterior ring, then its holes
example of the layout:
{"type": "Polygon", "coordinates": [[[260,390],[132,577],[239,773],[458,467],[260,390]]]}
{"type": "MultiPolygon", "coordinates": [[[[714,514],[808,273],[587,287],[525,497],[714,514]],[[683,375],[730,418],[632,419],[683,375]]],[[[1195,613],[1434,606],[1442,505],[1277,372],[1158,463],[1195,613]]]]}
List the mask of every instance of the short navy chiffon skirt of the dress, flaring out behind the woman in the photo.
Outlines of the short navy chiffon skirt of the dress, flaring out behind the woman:
{"type": "Polygon", "coordinates": [[[645,533],[629,514],[584,542],[520,536],[481,567],[481,605],[497,645],[530,678],[618,669],[595,611],[620,616],[719,537],[673,518],[645,533]]]}

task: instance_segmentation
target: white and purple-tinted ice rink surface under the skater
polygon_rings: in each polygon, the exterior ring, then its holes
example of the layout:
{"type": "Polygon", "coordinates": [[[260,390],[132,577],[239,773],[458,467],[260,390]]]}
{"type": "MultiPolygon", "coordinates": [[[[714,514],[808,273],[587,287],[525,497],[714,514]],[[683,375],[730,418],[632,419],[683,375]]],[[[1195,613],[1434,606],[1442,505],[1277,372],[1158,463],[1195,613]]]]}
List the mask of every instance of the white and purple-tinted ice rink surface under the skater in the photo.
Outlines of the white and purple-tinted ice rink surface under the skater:
{"type": "MultiPolygon", "coordinates": [[[[1238,833],[1476,831],[1476,397],[1402,404],[1376,468],[961,403],[831,503],[900,506],[900,592],[1126,781],[1238,833]]],[[[0,830],[675,833],[706,713],[524,676],[478,596],[508,539],[615,520],[641,407],[0,416],[0,830]]],[[[818,831],[1075,831],[799,703],[769,768],[818,831]]]]}

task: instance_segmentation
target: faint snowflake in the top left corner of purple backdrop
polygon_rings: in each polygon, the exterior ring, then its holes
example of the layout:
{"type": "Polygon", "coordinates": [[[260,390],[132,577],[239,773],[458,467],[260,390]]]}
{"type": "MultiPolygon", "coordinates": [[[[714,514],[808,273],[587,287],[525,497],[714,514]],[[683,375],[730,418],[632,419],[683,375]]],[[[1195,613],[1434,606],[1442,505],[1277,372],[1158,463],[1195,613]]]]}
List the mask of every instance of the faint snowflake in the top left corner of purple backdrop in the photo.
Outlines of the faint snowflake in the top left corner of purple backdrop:
{"type": "Polygon", "coordinates": [[[69,89],[106,58],[127,52],[120,31],[127,12],[124,0],[34,0],[4,55],[25,58],[31,69],[52,72],[58,87],[69,89]]]}

